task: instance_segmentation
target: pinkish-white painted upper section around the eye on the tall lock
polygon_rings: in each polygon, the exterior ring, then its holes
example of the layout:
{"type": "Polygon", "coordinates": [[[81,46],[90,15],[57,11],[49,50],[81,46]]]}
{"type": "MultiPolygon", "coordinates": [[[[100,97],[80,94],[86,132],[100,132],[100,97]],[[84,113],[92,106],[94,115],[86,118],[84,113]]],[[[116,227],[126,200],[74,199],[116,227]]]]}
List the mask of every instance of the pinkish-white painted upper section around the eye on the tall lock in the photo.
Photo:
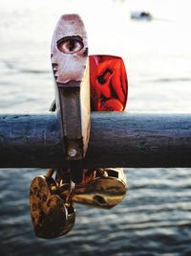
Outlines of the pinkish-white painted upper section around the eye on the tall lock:
{"type": "Polygon", "coordinates": [[[83,22],[76,14],[60,17],[52,40],[53,75],[58,83],[81,81],[84,58],[88,55],[87,35],[83,22]]]}

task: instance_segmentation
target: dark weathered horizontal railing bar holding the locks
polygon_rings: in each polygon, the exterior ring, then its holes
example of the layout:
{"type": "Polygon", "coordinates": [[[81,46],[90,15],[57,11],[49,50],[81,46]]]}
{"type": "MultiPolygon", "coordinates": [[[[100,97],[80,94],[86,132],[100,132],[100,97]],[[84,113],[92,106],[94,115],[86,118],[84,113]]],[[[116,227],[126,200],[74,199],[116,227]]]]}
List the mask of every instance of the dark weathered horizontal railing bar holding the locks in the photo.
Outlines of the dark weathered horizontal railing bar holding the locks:
{"type": "MultiPolygon", "coordinates": [[[[93,112],[83,167],[191,167],[191,114],[93,112]]],[[[67,167],[56,116],[1,115],[1,168],[67,167]]]]}

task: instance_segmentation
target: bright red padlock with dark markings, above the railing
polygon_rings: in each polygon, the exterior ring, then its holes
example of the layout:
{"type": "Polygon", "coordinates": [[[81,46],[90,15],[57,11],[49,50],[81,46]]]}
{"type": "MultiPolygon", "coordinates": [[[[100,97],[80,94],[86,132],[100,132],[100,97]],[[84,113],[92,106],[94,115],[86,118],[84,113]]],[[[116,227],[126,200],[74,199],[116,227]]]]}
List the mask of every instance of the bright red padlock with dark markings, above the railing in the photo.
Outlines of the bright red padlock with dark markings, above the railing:
{"type": "Polygon", "coordinates": [[[101,55],[89,58],[92,110],[124,110],[128,83],[122,58],[101,55]]]}

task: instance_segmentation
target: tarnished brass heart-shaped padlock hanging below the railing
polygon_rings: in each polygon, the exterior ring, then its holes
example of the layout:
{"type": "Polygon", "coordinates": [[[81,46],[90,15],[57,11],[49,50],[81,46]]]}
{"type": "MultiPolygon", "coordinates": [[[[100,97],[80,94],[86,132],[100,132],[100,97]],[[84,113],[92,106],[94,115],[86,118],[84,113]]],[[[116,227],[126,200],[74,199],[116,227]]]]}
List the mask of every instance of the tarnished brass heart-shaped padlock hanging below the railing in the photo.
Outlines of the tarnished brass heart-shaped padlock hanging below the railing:
{"type": "Polygon", "coordinates": [[[30,189],[30,206],[35,235],[51,239],[68,233],[74,226],[75,209],[71,198],[58,195],[53,170],[36,176],[30,189]]]}

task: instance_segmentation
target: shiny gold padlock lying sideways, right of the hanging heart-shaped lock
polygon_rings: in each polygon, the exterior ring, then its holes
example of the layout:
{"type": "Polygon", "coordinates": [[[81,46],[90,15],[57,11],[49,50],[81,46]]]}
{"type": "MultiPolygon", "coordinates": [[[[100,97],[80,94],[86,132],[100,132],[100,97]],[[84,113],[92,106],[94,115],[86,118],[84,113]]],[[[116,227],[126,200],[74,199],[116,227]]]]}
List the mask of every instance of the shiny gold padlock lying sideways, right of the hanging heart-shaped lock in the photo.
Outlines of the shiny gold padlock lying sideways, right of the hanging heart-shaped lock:
{"type": "MultiPolygon", "coordinates": [[[[60,188],[62,195],[67,192],[67,183],[60,188]],[[63,190],[63,191],[62,191],[63,190]]],[[[73,200],[77,203],[110,209],[126,195],[126,175],[122,168],[83,170],[83,180],[75,186],[73,200]]]]}

